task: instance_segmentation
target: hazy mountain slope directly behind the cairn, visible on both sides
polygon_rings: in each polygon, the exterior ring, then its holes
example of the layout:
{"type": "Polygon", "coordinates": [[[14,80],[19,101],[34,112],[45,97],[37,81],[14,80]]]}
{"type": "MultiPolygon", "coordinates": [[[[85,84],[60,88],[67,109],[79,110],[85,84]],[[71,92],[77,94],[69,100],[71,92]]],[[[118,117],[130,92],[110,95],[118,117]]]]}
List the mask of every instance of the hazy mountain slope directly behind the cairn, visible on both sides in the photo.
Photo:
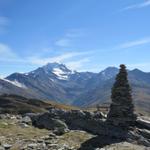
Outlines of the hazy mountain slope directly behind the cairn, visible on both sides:
{"type": "MultiPolygon", "coordinates": [[[[133,99],[136,109],[146,111],[150,114],[150,74],[138,69],[128,71],[128,78],[132,87],[133,99]]],[[[115,76],[99,85],[87,93],[83,93],[80,99],[75,101],[75,105],[91,106],[110,101],[111,87],[115,81],[115,76]]]]}

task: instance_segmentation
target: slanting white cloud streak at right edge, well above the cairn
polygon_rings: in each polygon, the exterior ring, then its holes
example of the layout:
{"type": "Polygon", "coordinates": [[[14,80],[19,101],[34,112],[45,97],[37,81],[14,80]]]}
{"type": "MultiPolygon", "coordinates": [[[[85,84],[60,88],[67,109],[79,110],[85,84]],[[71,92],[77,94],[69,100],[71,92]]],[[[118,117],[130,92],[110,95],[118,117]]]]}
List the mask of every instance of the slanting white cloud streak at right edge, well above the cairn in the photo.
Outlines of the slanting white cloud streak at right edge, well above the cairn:
{"type": "Polygon", "coordinates": [[[131,48],[131,47],[135,47],[135,46],[141,46],[141,45],[145,45],[145,44],[150,44],[150,37],[143,38],[140,40],[135,40],[135,41],[129,41],[127,43],[123,43],[123,44],[117,46],[117,48],[125,49],[125,48],[131,48]]]}

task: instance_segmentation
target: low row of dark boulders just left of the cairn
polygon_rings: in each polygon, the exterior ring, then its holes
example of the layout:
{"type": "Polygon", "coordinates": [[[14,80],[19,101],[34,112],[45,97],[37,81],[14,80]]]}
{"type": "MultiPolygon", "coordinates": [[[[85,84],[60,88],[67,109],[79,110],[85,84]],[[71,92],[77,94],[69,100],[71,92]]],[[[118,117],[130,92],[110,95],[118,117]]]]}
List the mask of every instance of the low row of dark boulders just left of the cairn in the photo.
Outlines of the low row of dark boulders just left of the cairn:
{"type": "Polygon", "coordinates": [[[104,131],[104,118],[101,113],[82,110],[63,111],[52,109],[50,112],[31,117],[32,124],[39,128],[55,130],[56,134],[71,130],[85,130],[98,134],[104,131]]]}

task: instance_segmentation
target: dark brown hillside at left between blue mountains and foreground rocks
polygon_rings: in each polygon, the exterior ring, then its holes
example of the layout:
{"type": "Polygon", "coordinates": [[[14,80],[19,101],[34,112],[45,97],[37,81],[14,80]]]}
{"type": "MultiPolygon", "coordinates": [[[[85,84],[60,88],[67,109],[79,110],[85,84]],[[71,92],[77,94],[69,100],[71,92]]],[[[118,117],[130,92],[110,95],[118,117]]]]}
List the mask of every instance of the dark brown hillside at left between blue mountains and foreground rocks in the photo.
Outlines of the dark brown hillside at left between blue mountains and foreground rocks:
{"type": "Polygon", "coordinates": [[[42,113],[47,112],[51,108],[59,108],[65,110],[77,109],[73,106],[62,105],[52,101],[29,99],[17,95],[4,94],[0,96],[0,114],[42,113]]]}

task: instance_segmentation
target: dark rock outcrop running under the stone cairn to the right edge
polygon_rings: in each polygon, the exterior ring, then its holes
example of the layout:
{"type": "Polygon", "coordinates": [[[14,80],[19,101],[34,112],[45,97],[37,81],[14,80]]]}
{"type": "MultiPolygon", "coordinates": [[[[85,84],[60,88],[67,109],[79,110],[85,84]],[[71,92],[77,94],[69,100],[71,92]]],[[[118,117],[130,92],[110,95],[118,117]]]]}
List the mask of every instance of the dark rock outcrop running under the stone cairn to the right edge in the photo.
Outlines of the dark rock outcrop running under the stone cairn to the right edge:
{"type": "Polygon", "coordinates": [[[97,116],[98,112],[81,110],[64,111],[61,109],[51,109],[48,113],[30,115],[33,125],[39,128],[52,129],[53,120],[57,119],[60,122],[64,122],[64,130],[83,130],[102,138],[107,137],[105,142],[108,142],[108,144],[110,144],[111,140],[115,140],[116,142],[136,142],[139,145],[150,147],[150,130],[147,128],[150,125],[149,121],[139,121],[138,118],[134,126],[123,128],[118,125],[109,124],[102,113],[99,113],[99,117],[97,116]]]}

